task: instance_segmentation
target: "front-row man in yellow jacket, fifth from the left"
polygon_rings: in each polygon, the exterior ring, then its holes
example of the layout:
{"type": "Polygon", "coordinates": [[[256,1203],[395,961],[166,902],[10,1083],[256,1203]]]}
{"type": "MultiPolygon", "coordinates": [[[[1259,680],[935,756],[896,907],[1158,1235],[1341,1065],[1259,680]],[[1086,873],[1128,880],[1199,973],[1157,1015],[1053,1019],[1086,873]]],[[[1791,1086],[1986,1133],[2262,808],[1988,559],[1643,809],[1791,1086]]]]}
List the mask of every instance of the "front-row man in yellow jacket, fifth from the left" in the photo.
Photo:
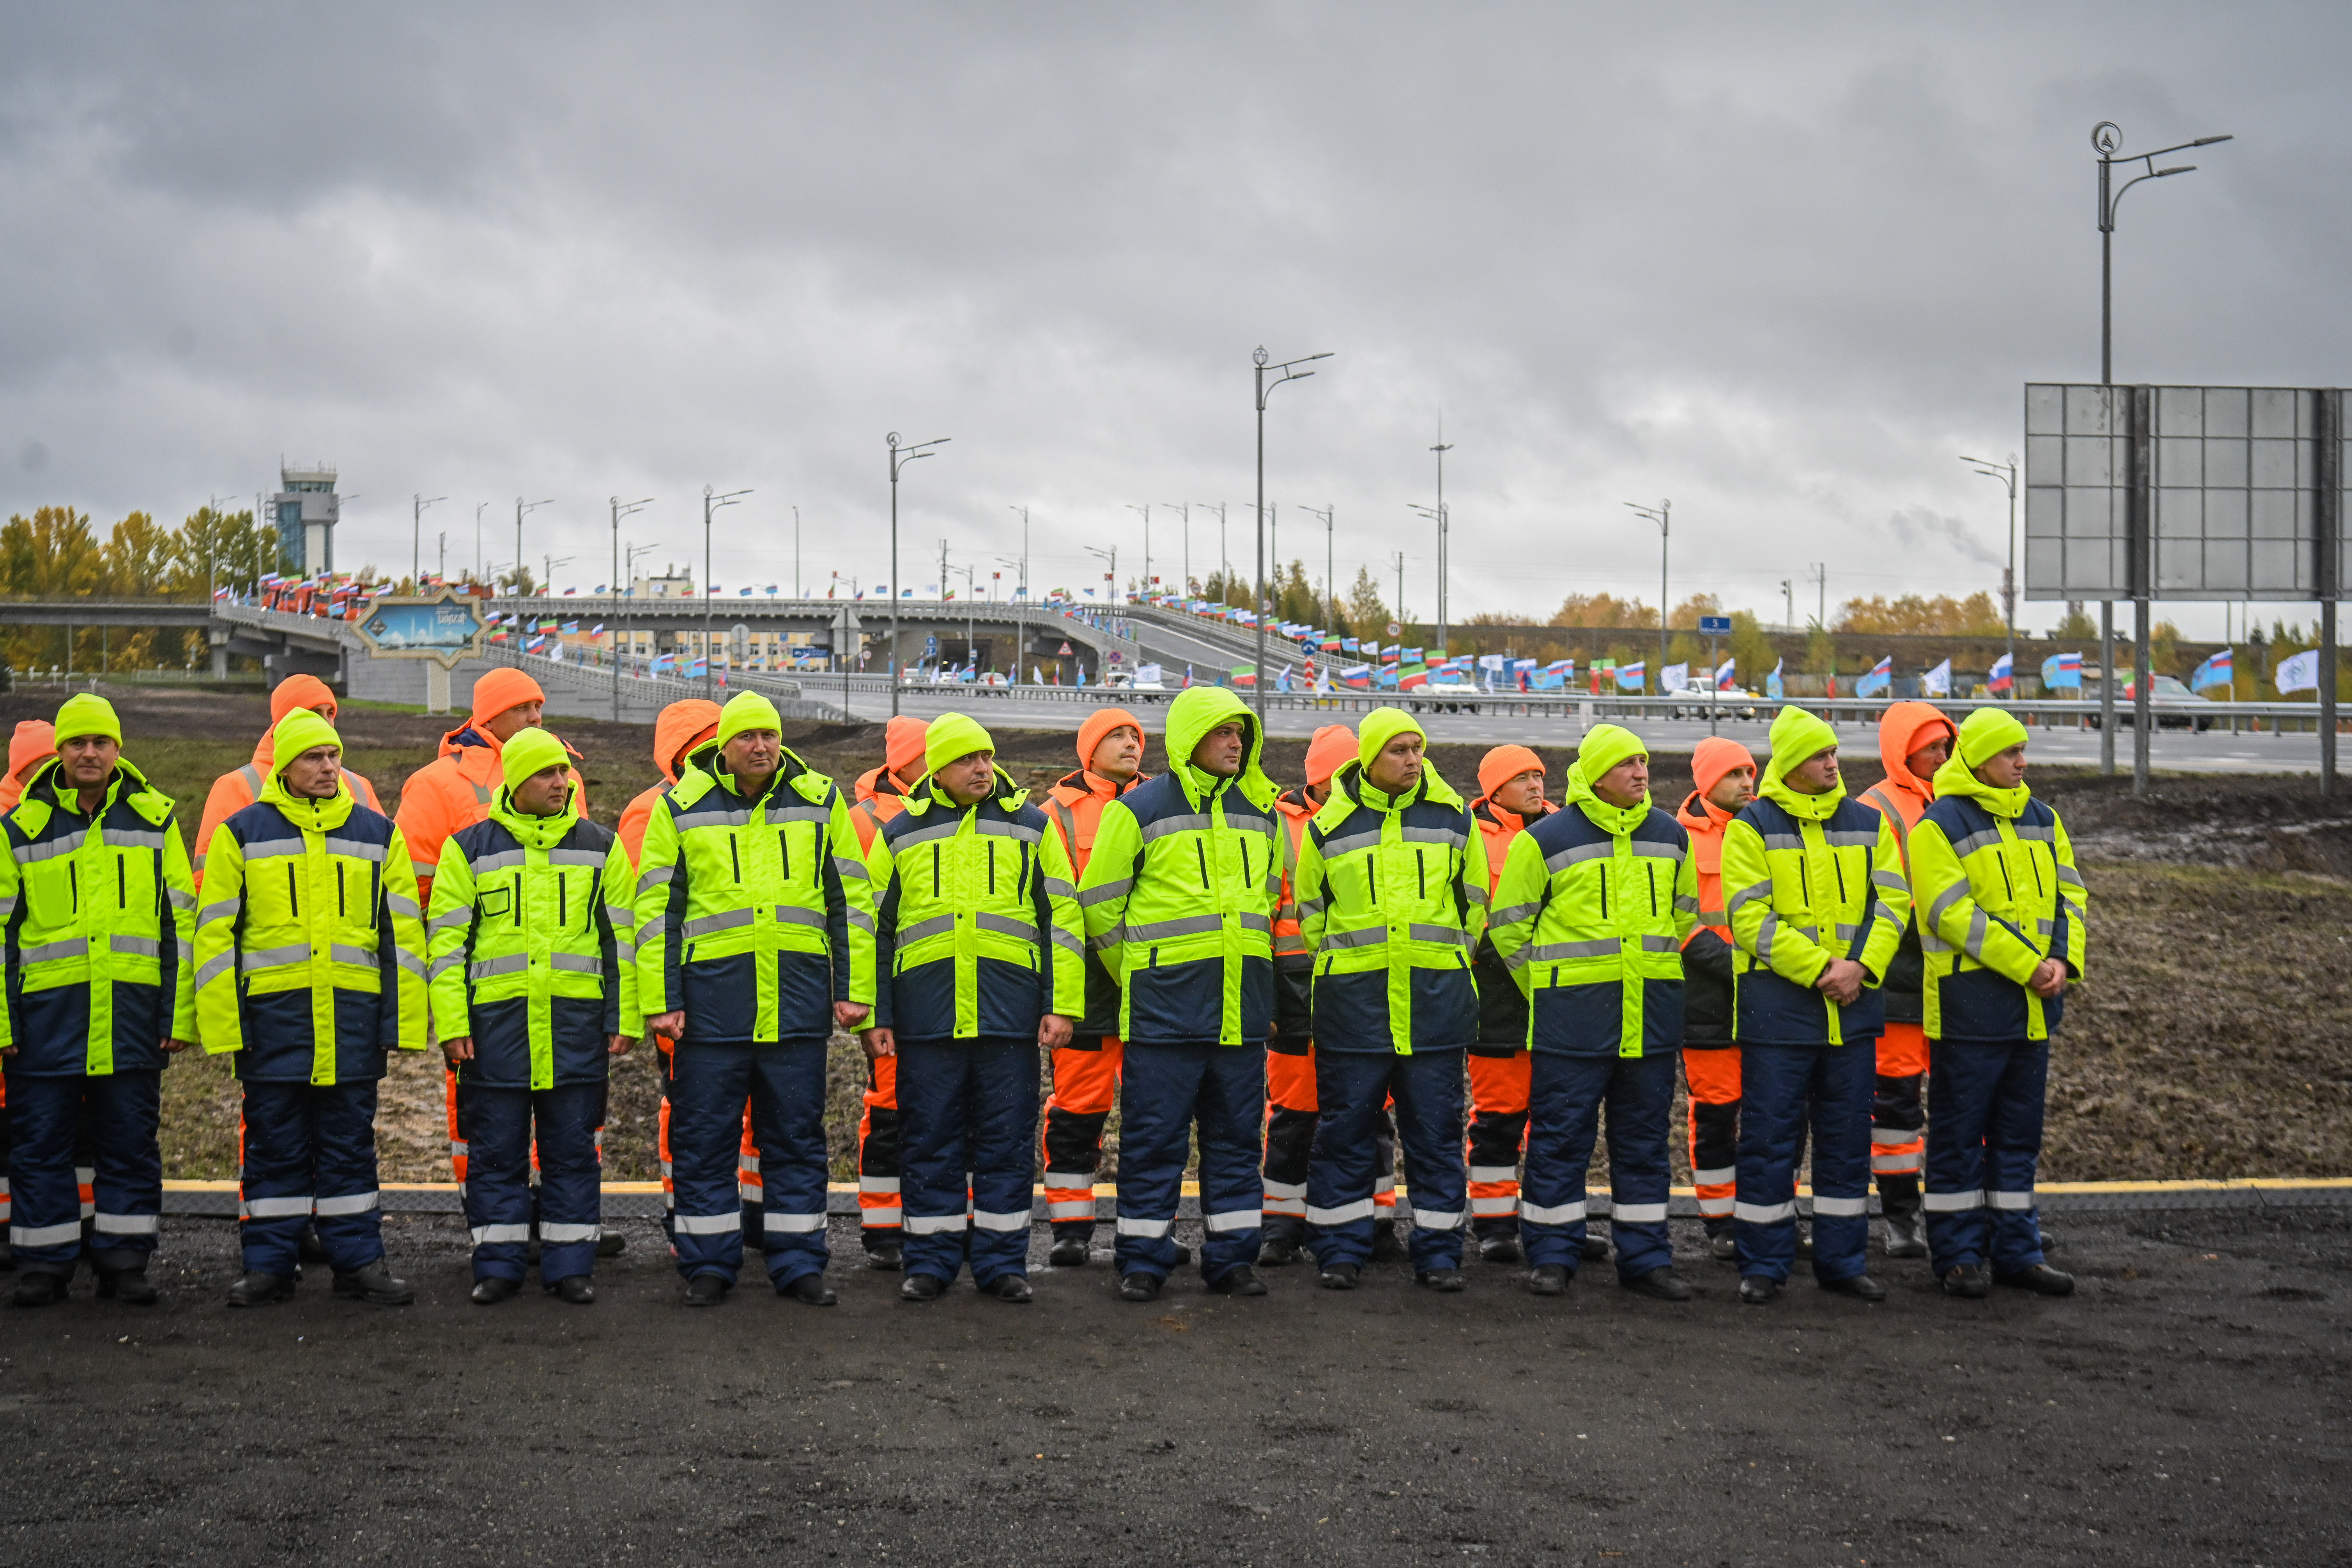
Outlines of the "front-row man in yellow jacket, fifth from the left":
{"type": "Polygon", "coordinates": [[[1061,839],[990,733],[943,712],[924,762],[870,860],[882,900],[866,1048],[898,1058],[898,1293],[936,1300],[969,1255],[981,1293],[1025,1302],[1037,1051],[1087,1011],[1084,924],[1061,839]]]}

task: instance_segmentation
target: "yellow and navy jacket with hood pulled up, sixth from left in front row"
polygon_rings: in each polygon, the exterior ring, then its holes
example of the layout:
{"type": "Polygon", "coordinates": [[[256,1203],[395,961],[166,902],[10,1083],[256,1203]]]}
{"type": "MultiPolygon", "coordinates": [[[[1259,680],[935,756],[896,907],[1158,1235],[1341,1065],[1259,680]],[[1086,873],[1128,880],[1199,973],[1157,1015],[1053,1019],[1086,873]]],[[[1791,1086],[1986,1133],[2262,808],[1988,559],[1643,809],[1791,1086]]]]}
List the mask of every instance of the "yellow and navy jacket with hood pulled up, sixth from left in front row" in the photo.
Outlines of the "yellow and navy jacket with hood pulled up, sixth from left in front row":
{"type": "Polygon", "coordinates": [[[1265,741],[1242,701],[1221,686],[1192,691],[1169,712],[1169,757],[1190,757],[1202,736],[1240,719],[1242,771],[1216,778],[1178,762],[1108,802],[1077,903],[1087,943],[1120,983],[1122,1039],[1258,1044],[1275,1023],[1275,788],[1258,771],[1265,741]],[[1202,696],[1185,705],[1192,691],[1202,696]]]}

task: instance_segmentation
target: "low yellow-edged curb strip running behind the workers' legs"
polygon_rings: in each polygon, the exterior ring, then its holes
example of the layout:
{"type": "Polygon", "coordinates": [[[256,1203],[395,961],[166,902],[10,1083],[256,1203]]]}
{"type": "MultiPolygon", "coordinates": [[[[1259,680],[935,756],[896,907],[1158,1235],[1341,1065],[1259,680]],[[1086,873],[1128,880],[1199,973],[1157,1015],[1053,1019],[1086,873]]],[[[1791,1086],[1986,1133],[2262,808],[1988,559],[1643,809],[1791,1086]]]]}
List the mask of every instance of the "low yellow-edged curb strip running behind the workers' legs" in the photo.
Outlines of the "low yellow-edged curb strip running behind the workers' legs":
{"type": "MultiPolygon", "coordinates": [[[[2234,1180],[2234,1182],[2051,1182],[2039,1190],[2042,1213],[2140,1213],[2169,1208],[2352,1208],[2352,1180],[2234,1180]]],[[[1397,1187],[1399,1208],[1409,1211],[1404,1187],[1397,1187]]],[[[386,1182],[386,1213],[463,1213],[456,1182],[386,1182]]],[[[659,1220],[661,1182],[604,1182],[607,1220],[659,1220]]],[[[238,1218],[235,1182],[165,1182],[162,1211],[191,1218],[238,1218]]],[[[854,1215],[858,1190],[854,1182],[833,1182],[826,1190],[826,1213],[854,1215]]],[[[1108,1182],[1094,1190],[1096,1220],[1110,1220],[1117,1211],[1117,1190],[1108,1182]]],[[[1592,1192],[1585,1211],[1595,1220],[1609,1218],[1609,1194],[1592,1192]]],[[[1797,1197],[1797,1211],[1813,1213],[1809,1194],[1797,1197]]],[[[1870,1211],[1879,1211],[1877,1197],[1870,1211]]],[[[1675,1187],[1670,1213],[1677,1220],[1698,1218],[1698,1199],[1689,1187],[1675,1187]]],[[[1200,1218],[1200,1190],[1185,1182],[1176,1215],[1200,1218]]],[[[1044,1220],[1044,1194],[1035,1199],[1033,1220],[1044,1220]]]]}

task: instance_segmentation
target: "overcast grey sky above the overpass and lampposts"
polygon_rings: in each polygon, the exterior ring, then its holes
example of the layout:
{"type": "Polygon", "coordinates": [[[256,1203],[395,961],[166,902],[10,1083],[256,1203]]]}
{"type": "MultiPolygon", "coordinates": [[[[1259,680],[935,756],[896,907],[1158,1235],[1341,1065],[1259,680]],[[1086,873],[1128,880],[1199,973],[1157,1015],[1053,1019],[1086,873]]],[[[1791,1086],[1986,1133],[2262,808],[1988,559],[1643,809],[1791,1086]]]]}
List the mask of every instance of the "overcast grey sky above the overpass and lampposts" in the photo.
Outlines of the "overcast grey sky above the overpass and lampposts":
{"type": "MultiPolygon", "coordinates": [[[[1999,585],[2025,381],[2098,378],[2089,129],[2209,132],[2136,190],[2117,378],[2345,386],[2352,9],[1505,5],[14,5],[0,487],[101,527],[355,494],[339,564],[604,583],[1037,588],[1247,559],[1249,353],[1279,555],[1451,614],[1571,590],[1769,621],[1999,585]],[[1211,505],[1202,505],[1211,503],[1211,505]],[[957,578],[960,581],[960,578],[957,578]],[[1011,574],[1007,574],[1007,585],[1011,574]]],[[[2032,604],[2027,625],[2053,621],[2032,604]]],[[[2192,632],[2220,616],[2180,616],[2192,632]]]]}

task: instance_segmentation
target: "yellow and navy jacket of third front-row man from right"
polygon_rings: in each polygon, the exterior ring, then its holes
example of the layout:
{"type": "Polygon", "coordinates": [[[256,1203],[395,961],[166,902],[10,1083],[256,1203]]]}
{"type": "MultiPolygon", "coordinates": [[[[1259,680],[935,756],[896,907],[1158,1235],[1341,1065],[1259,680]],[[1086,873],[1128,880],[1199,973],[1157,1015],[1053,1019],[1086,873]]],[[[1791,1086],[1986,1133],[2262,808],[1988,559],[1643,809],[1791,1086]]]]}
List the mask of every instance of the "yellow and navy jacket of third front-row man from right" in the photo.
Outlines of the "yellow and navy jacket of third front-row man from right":
{"type": "Polygon", "coordinates": [[[1569,773],[1569,804],[1512,839],[1494,905],[1494,950],[1526,994],[1531,1051],[1682,1046],[1682,938],[1698,926],[1698,872],[1672,816],[1646,799],[1611,806],[1569,773]]]}

